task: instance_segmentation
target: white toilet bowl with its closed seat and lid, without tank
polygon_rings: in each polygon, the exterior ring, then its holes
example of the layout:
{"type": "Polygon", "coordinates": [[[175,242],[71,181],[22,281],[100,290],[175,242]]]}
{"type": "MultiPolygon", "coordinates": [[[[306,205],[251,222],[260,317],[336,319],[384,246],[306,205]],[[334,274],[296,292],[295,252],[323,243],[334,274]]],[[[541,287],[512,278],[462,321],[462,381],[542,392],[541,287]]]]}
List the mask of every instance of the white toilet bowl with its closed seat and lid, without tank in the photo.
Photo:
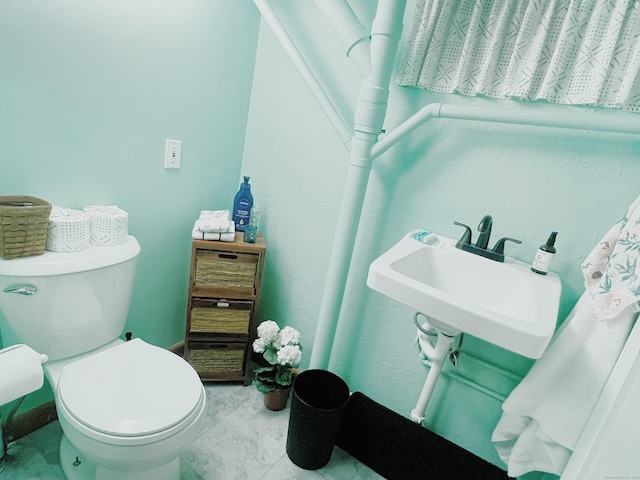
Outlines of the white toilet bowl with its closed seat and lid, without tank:
{"type": "Polygon", "coordinates": [[[68,440],[60,449],[67,478],[179,478],[206,399],[187,362],[134,339],[62,368],[45,364],[45,374],[68,440]]]}

